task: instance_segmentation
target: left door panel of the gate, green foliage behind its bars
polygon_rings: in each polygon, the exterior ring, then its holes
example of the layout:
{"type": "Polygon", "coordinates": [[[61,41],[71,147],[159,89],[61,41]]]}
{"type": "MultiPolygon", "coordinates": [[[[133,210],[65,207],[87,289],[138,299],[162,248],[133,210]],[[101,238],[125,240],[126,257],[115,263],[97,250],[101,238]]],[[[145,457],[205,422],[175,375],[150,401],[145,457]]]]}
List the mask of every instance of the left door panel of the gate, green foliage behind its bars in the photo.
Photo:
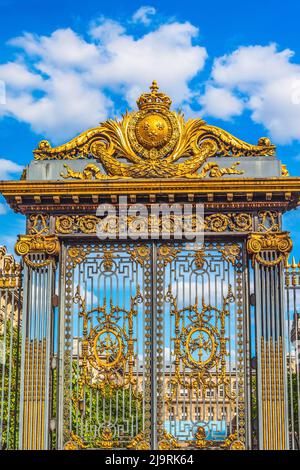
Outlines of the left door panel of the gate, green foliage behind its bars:
{"type": "Polygon", "coordinates": [[[63,250],[58,444],[149,447],[150,247],[66,245],[63,250]]]}

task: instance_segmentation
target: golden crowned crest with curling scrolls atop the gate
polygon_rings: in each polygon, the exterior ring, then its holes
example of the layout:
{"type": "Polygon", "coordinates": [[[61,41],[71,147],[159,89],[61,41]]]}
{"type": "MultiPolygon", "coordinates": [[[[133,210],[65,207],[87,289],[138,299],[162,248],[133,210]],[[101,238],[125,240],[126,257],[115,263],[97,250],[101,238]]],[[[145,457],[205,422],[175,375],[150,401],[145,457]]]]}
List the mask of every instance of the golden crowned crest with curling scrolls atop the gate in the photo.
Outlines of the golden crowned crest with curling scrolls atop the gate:
{"type": "Polygon", "coordinates": [[[275,147],[263,137],[250,145],[201,119],[185,121],[181,113],[170,110],[171,99],[158,91],[153,82],[150,93],[137,101],[138,111],[126,113],[121,121],[109,119],[100,126],[59,147],[41,141],[35,159],[76,160],[95,158],[82,172],[66,166],[63,178],[81,180],[111,178],[203,178],[242,174],[236,162],[220,168],[215,156],[274,155],[275,147]],[[122,161],[123,160],[123,161],[122,161]],[[202,171],[198,170],[202,168],[202,171]]]}

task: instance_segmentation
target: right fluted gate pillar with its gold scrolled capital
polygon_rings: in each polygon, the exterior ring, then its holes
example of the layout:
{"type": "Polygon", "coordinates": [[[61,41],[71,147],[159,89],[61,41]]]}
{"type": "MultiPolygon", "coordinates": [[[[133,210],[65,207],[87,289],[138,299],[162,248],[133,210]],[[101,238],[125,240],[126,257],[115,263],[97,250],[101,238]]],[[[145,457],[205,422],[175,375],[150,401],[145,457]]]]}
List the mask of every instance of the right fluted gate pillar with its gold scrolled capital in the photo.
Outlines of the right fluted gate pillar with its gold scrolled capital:
{"type": "Polygon", "coordinates": [[[292,249],[288,232],[252,233],[256,298],[259,448],[288,449],[283,267],[292,249]]]}

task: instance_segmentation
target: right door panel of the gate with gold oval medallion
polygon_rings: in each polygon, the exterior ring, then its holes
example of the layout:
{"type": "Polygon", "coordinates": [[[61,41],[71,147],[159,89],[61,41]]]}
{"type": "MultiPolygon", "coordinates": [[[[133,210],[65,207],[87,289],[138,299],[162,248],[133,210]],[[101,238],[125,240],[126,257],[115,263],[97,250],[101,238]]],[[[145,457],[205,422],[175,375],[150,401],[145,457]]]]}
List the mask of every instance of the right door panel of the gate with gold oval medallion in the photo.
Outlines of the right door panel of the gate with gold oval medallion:
{"type": "Polygon", "coordinates": [[[243,246],[166,244],[157,258],[158,446],[245,448],[243,246]]]}

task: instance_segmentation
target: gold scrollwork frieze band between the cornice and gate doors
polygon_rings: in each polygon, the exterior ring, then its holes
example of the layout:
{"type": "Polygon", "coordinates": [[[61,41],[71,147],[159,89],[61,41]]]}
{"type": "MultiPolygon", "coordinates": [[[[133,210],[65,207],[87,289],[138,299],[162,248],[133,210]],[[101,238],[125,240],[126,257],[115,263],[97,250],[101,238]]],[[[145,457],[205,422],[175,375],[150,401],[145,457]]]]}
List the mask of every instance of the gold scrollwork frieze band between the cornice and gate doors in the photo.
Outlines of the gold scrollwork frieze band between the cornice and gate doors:
{"type": "MultiPolygon", "coordinates": [[[[23,253],[19,254],[24,255],[34,250],[38,252],[39,240],[43,242],[53,235],[96,235],[98,231],[118,234],[121,225],[123,227],[126,225],[127,233],[135,236],[145,232],[159,236],[166,231],[172,235],[182,229],[184,231],[185,227],[193,231],[198,229],[201,232],[216,234],[239,233],[247,235],[252,232],[274,234],[280,232],[281,214],[270,210],[258,211],[257,214],[252,212],[215,212],[203,216],[197,213],[178,215],[170,212],[168,215],[160,213],[150,214],[146,217],[124,215],[124,213],[120,215],[118,212],[109,216],[57,214],[49,217],[48,214],[32,214],[27,220],[27,239],[34,240],[34,245],[23,239],[23,242],[26,241],[26,253],[23,250],[23,253]]],[[[18,251],[20,250],[18,249],[18,251]]]]}

